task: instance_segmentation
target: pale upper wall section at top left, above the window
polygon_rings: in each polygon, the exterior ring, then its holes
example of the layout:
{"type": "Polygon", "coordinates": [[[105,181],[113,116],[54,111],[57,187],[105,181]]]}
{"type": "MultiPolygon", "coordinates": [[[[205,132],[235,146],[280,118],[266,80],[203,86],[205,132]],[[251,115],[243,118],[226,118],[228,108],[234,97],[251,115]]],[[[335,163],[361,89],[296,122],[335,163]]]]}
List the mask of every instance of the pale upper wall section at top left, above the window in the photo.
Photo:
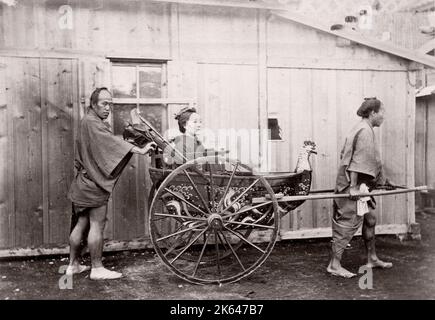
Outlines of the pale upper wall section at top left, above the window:
{"type": "Polygon", "coordinates": [[[169,4],[116,0],[33,0],[0,5],[0,48],[169,57],[169,4]],[[72,29],[60,7],[72,9],[72,29]]]}

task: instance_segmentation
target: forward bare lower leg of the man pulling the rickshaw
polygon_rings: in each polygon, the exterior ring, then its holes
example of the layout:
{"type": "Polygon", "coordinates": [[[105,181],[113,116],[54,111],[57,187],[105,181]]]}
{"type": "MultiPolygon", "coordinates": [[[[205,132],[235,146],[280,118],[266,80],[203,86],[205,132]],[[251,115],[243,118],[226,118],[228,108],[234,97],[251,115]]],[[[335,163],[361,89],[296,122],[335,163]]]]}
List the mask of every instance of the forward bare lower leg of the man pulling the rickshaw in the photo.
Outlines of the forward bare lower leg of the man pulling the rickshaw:
{"type": "Polygon", "coordinates": [[[376,216],[372,211],[364,215],[364,224],[362,229],[362,236],[367,250],[367,267],[370,268],[391,268],[391,262],[385,262],[378,258],[376,255],[375,247],[375,226],[376,216]]]}

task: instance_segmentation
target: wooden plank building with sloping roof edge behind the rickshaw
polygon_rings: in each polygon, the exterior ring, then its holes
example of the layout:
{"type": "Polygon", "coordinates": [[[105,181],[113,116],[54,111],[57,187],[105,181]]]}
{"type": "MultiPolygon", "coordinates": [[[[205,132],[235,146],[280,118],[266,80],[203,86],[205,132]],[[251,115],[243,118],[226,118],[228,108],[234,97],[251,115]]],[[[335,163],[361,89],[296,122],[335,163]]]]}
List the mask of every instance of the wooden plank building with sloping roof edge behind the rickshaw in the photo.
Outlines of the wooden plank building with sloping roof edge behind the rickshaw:
{"type": "MultiPolygon", "coordinates": [[[[140,106],[157,128],[196,103],[205,127],[281,128],[258,161],[292,171],[313,139],[313,189],[334,186],[363,97],[387,109],[378,131],[392,180],[414,185],[415,72],[431,57],[330,31],[247,0],[0,2],[0,256],[68,252],[73,141],[97,86],[114,93],[115,134],[140,106]],[[274,119],[274,121],[269,121],[274,119]]],[[[148,161],[134,156],[109,203],[106,249],[149,245],[148,161]]],[[[281,238],[328,237],[331,200],[283,218],[281,238]]],[[[380,199],[378,233],[407,233],[414,195],[380,199]]]]}

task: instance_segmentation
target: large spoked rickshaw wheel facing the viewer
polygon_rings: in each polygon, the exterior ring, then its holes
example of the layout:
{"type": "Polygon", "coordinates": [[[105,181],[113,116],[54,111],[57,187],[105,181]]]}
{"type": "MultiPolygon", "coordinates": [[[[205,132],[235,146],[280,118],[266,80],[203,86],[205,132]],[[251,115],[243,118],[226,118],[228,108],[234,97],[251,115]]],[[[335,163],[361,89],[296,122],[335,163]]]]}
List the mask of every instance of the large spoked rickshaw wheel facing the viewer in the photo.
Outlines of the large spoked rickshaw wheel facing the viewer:
{"type": "Polygon", "coordinates": [[[177,276],[197,284],[238,281],[259,268],[279,231],[269,183],[240,162],[203,157],[170,173],[149,211],[151,242],[177,276]],[[266,201],[253,205],[252,199],[266,201]]]}

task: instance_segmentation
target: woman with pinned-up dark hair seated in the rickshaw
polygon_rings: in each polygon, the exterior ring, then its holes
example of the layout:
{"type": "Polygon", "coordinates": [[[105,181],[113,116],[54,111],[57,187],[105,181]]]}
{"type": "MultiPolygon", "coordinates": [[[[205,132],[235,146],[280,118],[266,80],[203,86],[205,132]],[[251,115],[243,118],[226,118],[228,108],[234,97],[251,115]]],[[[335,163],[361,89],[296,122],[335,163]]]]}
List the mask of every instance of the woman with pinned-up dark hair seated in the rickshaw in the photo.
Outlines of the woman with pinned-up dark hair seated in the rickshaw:
{"type": "Polygon", "coordinates": [[[175,115],[181,134],[172,139],[171,147],[164,150],[167,164],[181,165],[187,161],[207,155],[207,150],[198,139],[201,130],[201,117],[195,108],[186,107],[175,115]],[[175,150],[176,151],[175,151],[175,150]]]}

